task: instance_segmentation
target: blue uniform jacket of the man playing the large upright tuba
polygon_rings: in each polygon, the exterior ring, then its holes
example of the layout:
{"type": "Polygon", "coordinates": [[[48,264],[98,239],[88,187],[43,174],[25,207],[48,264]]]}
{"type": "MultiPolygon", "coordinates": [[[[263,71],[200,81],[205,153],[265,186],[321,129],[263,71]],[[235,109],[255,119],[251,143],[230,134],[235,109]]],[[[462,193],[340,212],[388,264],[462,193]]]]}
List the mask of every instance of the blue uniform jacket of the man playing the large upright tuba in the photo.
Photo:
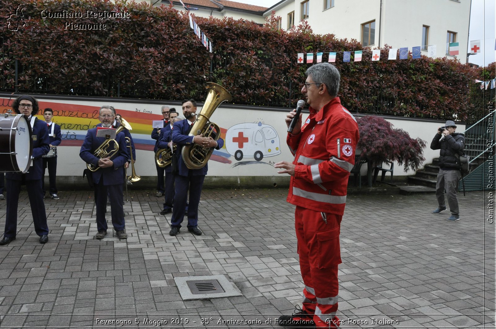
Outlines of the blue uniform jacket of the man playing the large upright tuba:
{"type": "MultiPolygon", "coordinates": [[[[172,129],[172,141],[174,143],[178,144],[178,152],[180,155],[178,157],[179,174],[181,176],[187,176],[189,174],[189,170],[191,170],[191,174],[193,176],[206,175],[207,171],[208,171],[208,164],[205,164],[205,166],[203,168],[200,168],[200,169],[188,169],[188,167],[186,167],[185,162],[183,161],[183,156],[181,155],[181,151],[182,151],[184,145],[193,144],[193,137],[194,136],[188,135],[190,125],[191,125],[191,122],[189,122],[189,120],[181,120],[181,121],[175,122],[174,123],[174,129],[172,129]]],[[[219,134],[220,134],[220,131],[219,131],[219,134]]],[[[224,140],[220,137],[217,140],[217,143],[218,143],[218,145],[215,148],[216,150],[219,150],[224,146],[224,140]]]]}

